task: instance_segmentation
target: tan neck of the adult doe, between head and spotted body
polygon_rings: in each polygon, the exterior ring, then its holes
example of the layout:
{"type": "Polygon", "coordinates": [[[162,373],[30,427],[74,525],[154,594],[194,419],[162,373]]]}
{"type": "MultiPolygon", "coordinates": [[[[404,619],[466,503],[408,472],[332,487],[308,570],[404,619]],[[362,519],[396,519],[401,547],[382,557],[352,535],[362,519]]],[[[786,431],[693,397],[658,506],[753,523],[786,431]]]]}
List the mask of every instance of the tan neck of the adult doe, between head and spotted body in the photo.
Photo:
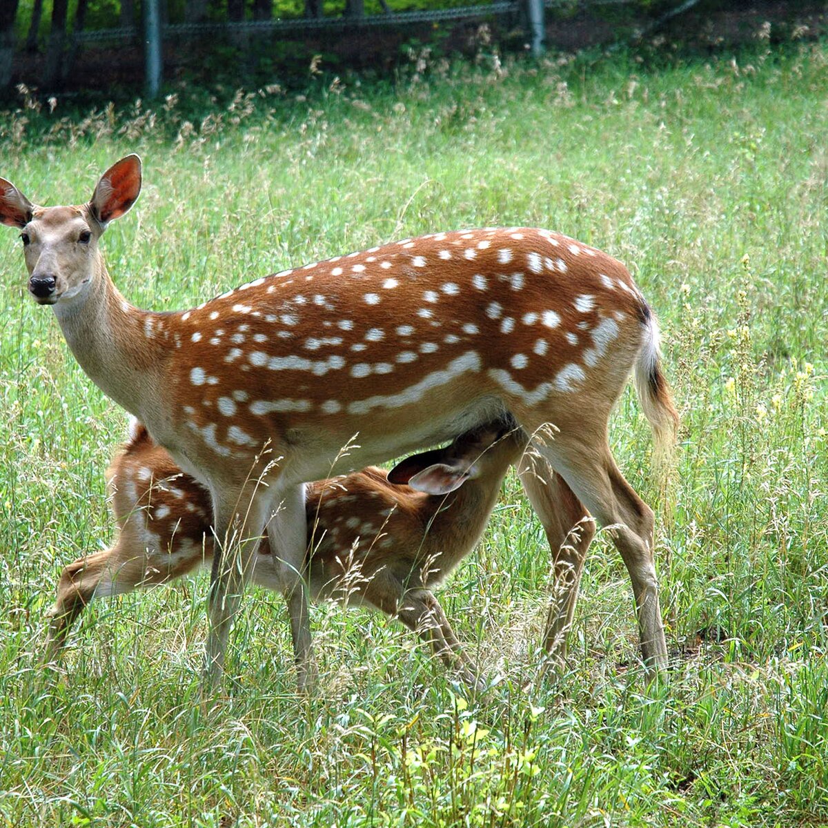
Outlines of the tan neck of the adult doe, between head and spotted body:
{"type": "Polygon", "coordinates": [[[103,259],[97,259],[89,290],[54,306],[55,316],[80,367],[103,393],[142,417],[152,398],[167,347],[162,314],[139,310],[118,292],[103,259]]]}

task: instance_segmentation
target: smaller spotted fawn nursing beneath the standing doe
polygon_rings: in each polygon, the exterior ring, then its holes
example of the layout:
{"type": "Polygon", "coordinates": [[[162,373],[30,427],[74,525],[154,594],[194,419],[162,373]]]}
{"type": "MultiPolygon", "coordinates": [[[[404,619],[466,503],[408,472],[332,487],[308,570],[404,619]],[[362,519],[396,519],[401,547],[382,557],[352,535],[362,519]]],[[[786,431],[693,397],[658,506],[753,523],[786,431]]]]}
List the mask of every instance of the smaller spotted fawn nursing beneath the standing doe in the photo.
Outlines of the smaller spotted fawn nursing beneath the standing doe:
{"type": "MultiPolygon", "coordinates": [[[[303,575],[311,597],[367,604],[399,618],[479,689],[479,671],[431,590],[478,542],[503,476],[525,445],[522,431],[492,424],[409,457],[390,474],[368,467],[309,484],[303,575]]],[[[166,584],[213,559],[209,493],[137,421],[107,482],[118,537],[107,550],[65,566],[49,613],[49,661],[92,599],[166,584]]],[[[271,561],[262,540],[250,577],[279,589],[271,561]]]]}

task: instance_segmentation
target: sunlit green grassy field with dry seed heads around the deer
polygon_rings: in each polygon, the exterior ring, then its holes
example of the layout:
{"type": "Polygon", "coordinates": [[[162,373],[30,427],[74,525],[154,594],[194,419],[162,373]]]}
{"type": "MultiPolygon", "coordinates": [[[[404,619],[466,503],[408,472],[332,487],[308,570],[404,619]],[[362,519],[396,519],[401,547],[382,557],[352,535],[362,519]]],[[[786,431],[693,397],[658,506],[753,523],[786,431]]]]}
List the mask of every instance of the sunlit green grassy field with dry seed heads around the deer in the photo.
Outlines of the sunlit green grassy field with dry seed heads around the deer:
{"type": "MultiPolygon", "coordinates": [[[[442,593],[493,680],[469,699],[395,622],[322,606],[320,695],[253,591],[205,717],[207,580],[94,604],[37,657],[60,567],[112,536],[125,416],[26,295],[0,233],[0,826],[816,826],[828,822],[828,46],[647,68],[426,63],[391,85],[181,92],[156,111],[0,115],[0,175],[86,200],[144,159],[103,248],[121,290],[192,306],[282,267],[435,229],[537,224],[632,269],[683,421],[663,498],[632,392],[612,442],[657,508],[669,681],[636,661],[599,535],[570,662],[538,678],[549,552],[509,478],[442,593]]],[[[35,104],[31,102],[31,106],[35,104]]]]}

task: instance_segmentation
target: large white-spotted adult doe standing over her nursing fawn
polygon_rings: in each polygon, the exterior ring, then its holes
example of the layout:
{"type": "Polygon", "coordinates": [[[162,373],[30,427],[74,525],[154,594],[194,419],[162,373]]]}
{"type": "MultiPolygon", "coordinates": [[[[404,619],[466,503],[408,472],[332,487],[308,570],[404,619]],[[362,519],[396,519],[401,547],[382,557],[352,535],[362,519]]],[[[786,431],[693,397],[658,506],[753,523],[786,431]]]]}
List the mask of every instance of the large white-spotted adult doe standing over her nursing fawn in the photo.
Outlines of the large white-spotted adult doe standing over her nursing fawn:
{"type": "MultiPolygon", "coordinates": [[[[607,421],[631,371],[661,445],[673,440],[676,412],[656,320],[623,265],[547,230],[431,233],[259,277],[191,310],[154,313],[118,292],[99,250],[103,230],[140,190],[135,155],[110,167],[91,200],[75,207],[37,207],[0,179],[0,221],[22,229],[29,291],[53,307],[89,377],[209,490],[220,546],[209,683],[223,670],[266,525],[300,688],[312,679],[304,481],[505,416],[527,435],[555,427],[553,440],[532,439],[539,460],[522,475],[553,553],[587,509],[613,526],[644,660],[666,662],[652,510],[615,464],[607,421]],[[359,445],[342,452],[355,434],[359,445]]],[[[571,571],[580,571],[584,553],[584,543],[570,553],[571,571]]]]}

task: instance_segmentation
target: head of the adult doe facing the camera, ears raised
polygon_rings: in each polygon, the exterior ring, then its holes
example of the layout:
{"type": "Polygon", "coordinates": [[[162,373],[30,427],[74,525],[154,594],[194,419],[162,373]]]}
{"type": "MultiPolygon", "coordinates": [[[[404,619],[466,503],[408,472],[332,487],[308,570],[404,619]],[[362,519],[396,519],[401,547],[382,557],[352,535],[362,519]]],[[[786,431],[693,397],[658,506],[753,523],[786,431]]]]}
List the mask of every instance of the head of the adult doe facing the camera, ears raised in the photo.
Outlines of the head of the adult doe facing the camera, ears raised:
{"type": "Polygon", "coordinates": [[[38,207],[0,178],[0,224],[21,229],[29,292],[39,305],[83,296],[95,274],[98,240],[141,192],[141,159],[122,158],[103,173],[92,198],[75,207],[38,207]]]}

